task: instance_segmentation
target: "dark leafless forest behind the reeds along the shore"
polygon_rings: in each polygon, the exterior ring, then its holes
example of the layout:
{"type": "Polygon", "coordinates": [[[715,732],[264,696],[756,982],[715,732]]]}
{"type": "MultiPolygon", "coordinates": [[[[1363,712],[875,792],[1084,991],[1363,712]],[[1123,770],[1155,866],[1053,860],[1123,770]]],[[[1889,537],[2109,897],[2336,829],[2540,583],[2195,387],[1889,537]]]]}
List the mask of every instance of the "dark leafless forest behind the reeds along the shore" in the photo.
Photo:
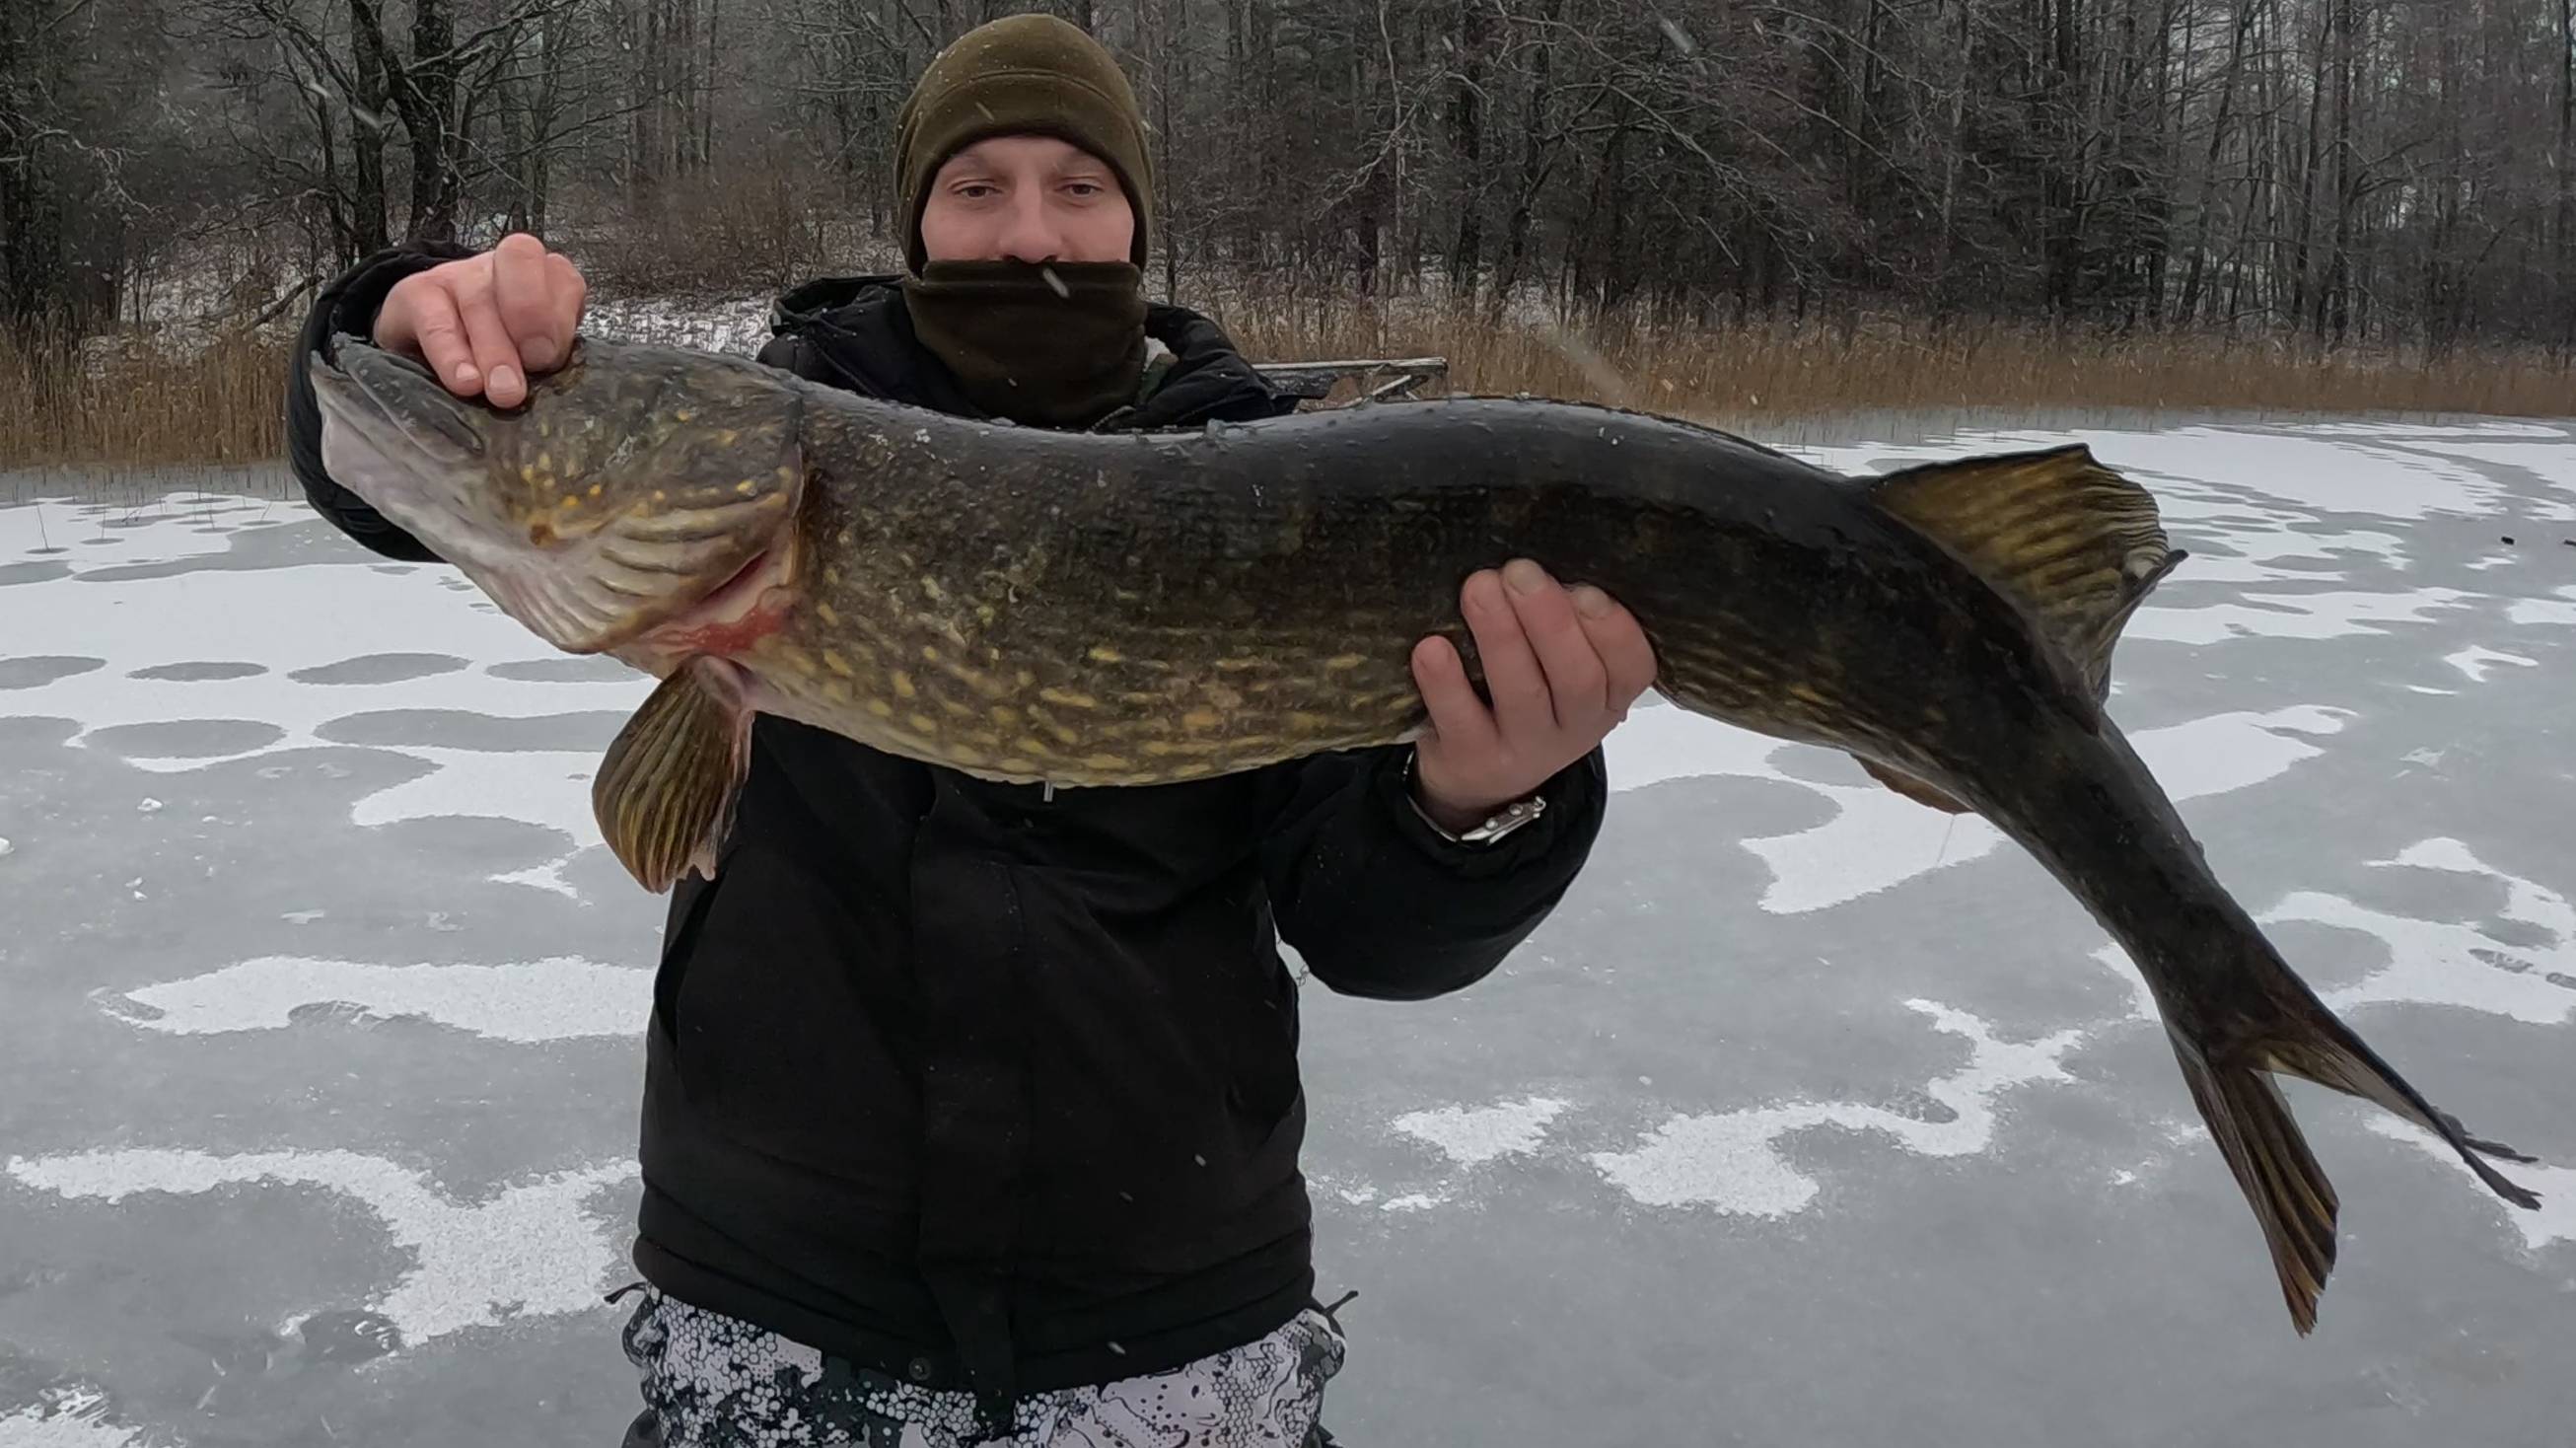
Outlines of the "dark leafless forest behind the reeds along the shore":
{"type": "MultiPolygon", "coordinates": [[[[914,72],[1018,8],[0,0],[0,343],[273,335],[389,240],[513,227],[626,296],[886,265],[914,72]]],[[[1144,98],[1177,299],[2576,353],[2576,0],[1054,8],[1144,98]]]]}

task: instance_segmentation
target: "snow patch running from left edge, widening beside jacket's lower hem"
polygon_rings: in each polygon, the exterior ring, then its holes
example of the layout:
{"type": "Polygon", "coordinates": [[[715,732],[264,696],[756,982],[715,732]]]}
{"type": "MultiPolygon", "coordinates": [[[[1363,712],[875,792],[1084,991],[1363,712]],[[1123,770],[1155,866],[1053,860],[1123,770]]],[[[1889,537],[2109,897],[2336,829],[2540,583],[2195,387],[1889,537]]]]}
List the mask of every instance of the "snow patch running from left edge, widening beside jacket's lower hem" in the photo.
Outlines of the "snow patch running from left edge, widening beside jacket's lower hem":
{"type": "MultiPolygon", "coordinates": [[[[420,1172],[355,1152],[80,1152],[10,1157],[8,1175],[36,1190],[106,1203],[250,1183],[348,1193],[412,1255],[412,1270],[366,1309],[394,1324],[402,1348],[420,1348],[466,1327],[598,1309],[623,1257],[585,1203],[600,1188],[634,1177],[634,1162],[549,1172],[477,1203],[459,1203],[420,1172]]],[[[299,1322],[273,1327],[294,1332],[299,1322]]]]}

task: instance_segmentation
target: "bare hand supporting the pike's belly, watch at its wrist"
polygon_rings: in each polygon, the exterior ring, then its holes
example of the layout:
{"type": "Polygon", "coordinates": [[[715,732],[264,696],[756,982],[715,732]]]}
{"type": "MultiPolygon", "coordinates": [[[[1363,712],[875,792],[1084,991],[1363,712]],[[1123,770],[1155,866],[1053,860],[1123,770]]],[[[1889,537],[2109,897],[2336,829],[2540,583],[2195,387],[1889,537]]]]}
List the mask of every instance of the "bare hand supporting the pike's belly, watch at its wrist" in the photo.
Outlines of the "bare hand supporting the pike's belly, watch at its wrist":
{"type": "Polygon", "coordinates": [[[1414,799],[1466,832],[1589,755],[1654,685],[1654,647],[1610,595],[1564,587],[1530,559],[1479,569],[1458,590],[1484,685],[1448,639],[1414,644],[1430,729],[1414,742],[1414,799]]]}

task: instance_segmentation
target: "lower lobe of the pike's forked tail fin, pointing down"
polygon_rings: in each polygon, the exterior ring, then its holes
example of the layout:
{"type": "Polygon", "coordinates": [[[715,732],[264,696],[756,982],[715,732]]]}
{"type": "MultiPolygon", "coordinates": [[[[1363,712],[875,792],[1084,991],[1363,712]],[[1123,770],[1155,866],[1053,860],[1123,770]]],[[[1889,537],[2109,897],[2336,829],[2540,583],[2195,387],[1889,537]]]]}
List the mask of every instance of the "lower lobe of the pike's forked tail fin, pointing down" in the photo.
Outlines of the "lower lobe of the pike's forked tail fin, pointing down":
{"type": "Polygon", "coordinates": [[[2280,1296],[2306,1337],[2316,1329],[2316,1299],[2334,1270],[2334,1183],[2308,1152],[2272,1077],[2251,1067],[2213,1064],[2182,1038],[2174,1038],[2174,1059],[2182,1062],[2182,1080],[2192,1087],[2218,1154],[2254,1203],[2280,1296]]]}

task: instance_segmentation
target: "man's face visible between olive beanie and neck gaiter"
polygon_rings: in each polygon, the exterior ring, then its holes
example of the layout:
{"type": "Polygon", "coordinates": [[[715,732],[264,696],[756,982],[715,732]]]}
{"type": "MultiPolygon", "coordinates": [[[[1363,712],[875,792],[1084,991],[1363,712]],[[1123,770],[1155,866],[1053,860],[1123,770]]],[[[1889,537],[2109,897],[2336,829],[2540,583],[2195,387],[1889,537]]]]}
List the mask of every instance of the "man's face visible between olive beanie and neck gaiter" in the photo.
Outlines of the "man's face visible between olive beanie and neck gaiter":
{"type": "Polygon", "coordinates": [[[922,206],[930,260],[1128,260],[1118,173],[1056,137],[987,137],[940,165],[922,206]]]}

